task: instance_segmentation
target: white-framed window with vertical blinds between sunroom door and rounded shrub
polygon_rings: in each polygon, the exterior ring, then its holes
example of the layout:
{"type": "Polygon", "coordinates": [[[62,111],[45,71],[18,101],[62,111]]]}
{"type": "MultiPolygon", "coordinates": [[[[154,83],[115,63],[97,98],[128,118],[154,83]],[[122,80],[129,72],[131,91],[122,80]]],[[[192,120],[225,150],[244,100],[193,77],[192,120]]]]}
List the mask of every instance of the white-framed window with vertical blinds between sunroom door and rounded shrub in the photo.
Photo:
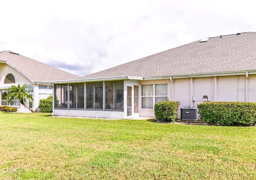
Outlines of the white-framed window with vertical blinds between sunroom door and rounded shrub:
{"type": "Polygon", "coordinates": [[[157,102],[166,101],[167,95],[167,84],[142,85],[142,108],[152,109],[157,102]]]}

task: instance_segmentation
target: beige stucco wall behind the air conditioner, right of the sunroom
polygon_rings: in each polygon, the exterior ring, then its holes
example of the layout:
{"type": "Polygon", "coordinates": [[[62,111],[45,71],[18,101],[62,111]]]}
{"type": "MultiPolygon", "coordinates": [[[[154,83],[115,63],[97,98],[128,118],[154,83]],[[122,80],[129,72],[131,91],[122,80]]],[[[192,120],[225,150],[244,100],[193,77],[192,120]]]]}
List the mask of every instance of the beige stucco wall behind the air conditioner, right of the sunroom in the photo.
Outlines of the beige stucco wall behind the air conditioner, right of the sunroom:
{"type": "MultiPolygon", "coordinates": [[[[180,108],[197,107],[198,103],[210,101],[256,102],[256,75],[212,76],[200,78],[172,78],[170,80],[147,80],[140,84],[168,84],[168,98],[180,102],[180,108]],[[247,84],[247,85],[246,85],[247,84]],[[246,95],[247,93],[247,95],[246,95]],[[192,98],[194,96],[194,99],[192,98]],[[205,100],[203,96],[208,96],[205,100]],[[246,96],[247,99],[246,99],[246,96]]],[[[141,88],[140,88],[141,90],[141,88]]],[[[141,95],[141,92],[140,92],[141,95]]],[[[141,96],[140,96],[141,100],[141,96]]],[[[140,104],[141,107],[141,104],[140,104]]],[[[153,109],[140,109],[140,116],[154,117],[153,109]]]]}

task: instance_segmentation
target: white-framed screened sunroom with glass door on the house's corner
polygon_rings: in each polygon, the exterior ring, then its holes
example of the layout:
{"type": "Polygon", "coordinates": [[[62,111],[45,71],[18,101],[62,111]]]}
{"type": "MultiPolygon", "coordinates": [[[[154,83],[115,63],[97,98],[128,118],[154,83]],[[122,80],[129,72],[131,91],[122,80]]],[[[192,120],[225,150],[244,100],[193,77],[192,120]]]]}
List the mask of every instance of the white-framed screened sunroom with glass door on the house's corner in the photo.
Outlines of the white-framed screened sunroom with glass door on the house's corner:
{"type": "Polygon", "coordinates": [[[56,116],[133,118],[139,116],[138,80],[54,83],[56,116]]]}

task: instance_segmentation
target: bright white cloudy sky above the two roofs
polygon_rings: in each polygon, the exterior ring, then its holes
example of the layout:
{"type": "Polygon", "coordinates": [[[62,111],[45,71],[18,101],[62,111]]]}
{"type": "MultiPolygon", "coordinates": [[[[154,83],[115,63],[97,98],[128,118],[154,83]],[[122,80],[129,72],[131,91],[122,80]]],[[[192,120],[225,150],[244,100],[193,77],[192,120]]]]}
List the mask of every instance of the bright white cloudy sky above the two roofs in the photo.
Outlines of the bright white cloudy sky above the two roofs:
{"type": "Polygon", "coordinates": [[[252,0],[1,0],[0,51],[86,76],[202,38],[256,32],[252,0]]]}

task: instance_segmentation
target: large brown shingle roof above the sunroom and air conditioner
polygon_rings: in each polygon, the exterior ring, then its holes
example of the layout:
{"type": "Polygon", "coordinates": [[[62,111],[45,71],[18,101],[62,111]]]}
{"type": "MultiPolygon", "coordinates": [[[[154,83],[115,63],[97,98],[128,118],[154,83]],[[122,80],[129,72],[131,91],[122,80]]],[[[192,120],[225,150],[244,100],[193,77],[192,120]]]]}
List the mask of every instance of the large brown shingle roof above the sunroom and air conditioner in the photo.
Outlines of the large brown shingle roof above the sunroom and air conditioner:
{"type": "Polygon", "coordinates": [[[109,68],[80,79],[175,76],[256,70],[256,32],[209,38],[109,68]]]}

